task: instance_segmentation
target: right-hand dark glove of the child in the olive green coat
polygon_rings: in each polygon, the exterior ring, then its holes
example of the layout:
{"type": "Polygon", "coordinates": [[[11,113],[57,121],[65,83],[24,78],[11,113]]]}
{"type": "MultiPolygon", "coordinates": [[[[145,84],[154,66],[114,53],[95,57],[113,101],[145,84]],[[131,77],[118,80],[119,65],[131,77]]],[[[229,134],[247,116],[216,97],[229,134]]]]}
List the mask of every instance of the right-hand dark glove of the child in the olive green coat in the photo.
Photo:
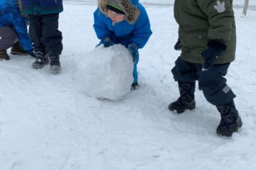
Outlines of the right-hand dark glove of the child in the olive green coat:
{"type": "Polygon", "coordinates": [[[203,71],[210,69],[221,53],[227,50],[227,45],[217,40],[208,41],[207,47],[206,50],[201,52],[201,57],[203,57],[203,71]]]}

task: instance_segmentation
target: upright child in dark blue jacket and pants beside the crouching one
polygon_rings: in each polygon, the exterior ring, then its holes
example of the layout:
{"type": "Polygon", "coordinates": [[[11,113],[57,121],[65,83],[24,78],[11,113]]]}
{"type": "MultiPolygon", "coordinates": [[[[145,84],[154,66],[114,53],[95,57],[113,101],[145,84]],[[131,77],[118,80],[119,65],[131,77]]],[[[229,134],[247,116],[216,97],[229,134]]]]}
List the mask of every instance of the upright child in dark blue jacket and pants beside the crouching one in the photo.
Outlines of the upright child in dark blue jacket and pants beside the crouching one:
{"type": "Polygon", "coordinates": [[[53,72],[60,71],[60,53],[63,50],[62,33],[58,30],[62,0],[21,0],[23,13],[28,15],[29,34],[33,42],[34,69],[48,64],[53,72]]]}

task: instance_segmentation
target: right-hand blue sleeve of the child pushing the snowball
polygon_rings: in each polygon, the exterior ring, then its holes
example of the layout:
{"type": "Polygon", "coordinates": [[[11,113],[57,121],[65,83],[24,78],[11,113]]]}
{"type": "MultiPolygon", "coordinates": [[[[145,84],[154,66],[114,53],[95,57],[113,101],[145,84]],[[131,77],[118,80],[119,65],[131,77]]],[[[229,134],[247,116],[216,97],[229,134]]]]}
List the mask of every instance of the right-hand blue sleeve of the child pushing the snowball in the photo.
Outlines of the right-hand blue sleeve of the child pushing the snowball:
{"type": "Polygon", "coordinates": [[[131,43],[135,43],[139,48],[142,48],[149,40],[152,31],[150,28],[149,16],[147,15],[145,8],[141,4],[138,5],[138,8],[141,13],[134,26],[131,43]]]}

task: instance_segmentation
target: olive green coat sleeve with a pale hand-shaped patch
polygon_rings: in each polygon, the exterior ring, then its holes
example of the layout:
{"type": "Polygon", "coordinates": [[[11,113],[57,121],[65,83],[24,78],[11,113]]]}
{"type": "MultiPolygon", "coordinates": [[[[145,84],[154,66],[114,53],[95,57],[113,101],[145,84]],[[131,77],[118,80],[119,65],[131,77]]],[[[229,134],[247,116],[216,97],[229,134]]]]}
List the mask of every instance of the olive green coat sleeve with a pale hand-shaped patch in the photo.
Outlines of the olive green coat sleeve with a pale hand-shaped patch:
{"type": "Polygon", "coordinates": [[[210,40],[228,42],[231,37],[232,29],[235,27],[232,2],[230,2],[230,0],[198,0],[198,5],[203,13],[206,13],[208,16],[210,24],[208,38],[210,40]]]}

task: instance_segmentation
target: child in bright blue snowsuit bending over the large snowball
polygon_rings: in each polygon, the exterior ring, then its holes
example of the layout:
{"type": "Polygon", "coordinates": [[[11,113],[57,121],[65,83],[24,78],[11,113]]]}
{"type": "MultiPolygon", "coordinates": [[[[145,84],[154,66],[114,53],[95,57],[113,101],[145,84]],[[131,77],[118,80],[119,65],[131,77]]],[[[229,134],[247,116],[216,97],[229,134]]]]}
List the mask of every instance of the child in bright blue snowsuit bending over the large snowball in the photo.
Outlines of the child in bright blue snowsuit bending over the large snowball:
{"type": "Polygon", "coordinates": [[[120,43],[129,49],[134,62],[132,89],[137,89],[138,49],[146,45],[152,33],[144,6],[138,0],[99,0],[94,19],[100,44],[110,47],[120,43]]]}

